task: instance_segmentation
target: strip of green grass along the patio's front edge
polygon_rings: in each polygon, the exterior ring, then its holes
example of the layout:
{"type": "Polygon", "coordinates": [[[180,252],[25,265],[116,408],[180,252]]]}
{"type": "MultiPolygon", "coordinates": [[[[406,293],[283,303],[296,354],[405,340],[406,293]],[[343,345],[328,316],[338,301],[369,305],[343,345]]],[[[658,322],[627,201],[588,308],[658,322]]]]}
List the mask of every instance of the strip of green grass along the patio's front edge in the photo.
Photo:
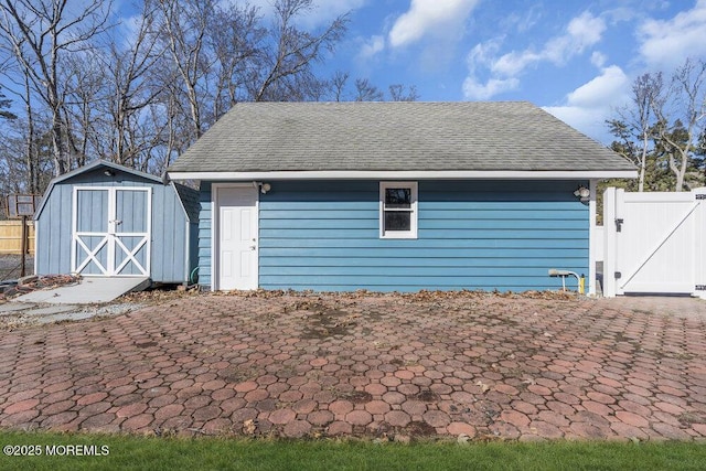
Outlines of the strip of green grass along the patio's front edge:
{"type": "Polygon", "coordinates": [[[0,432],[0,445],[39,446],[39,457],[0,456],[12,470],[703,470],[706,443],[456,443],[285,441],[0,432]],[[107,446],[108,456],[46,456],[46,446],[107,446]]]}

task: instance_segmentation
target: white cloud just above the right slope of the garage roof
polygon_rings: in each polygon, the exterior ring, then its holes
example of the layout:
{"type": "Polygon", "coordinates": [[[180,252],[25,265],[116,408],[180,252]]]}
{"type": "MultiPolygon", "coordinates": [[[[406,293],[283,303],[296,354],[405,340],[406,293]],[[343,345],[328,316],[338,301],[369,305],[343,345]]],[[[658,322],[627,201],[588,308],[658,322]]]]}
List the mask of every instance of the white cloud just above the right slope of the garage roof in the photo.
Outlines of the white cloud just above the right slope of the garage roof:
{"type": "Polygon", "coordinates": [[[608,143],[611,138],[606,127],[613,108],[630,98],[630,79],[622,68],[611,65],[601,75],[566,95],[565,105],[544,109],[587,136],[608,143]]]}

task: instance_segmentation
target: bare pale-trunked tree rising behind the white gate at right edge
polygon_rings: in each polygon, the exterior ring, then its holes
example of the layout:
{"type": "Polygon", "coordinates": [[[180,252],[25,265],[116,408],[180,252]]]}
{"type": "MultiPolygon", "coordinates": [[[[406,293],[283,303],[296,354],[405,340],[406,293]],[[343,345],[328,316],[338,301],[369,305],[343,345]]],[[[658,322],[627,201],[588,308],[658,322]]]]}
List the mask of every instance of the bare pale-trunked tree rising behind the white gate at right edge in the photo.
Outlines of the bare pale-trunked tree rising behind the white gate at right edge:
{"type": "Polygon", "coordinates": [[[670,169],[676,176],[675,191],[684,190],[686,171],[703,130],[702,121],[706,117],[705,79],[706,62],[687,60],[674,73],[665,100],[652,104],[657,118],[659,139],[667,152],[670,169]],[[675,109],[672,116],[668,105],[675,109]],[[676,119],[670,119],[671,117],[676,119]],[[675,132],[676,130],[680,132],[675,132]],[[680,135],[683,138],[676,139],[680,135]]]}

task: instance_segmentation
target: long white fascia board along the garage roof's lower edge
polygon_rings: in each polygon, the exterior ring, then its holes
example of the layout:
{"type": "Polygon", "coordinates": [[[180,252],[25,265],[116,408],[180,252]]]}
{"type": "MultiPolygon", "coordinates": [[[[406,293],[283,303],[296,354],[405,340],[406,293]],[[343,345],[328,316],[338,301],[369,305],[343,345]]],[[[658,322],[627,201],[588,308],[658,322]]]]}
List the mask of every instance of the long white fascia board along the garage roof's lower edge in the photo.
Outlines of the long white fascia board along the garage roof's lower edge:
{"type": "Polygon", "coordinates": [[[168,172],[171,180],[256,181],[256,180],[571,180],[635,179],[637,170],[429,170],[429,171],[277,171],[277,172],[168,172]]]}

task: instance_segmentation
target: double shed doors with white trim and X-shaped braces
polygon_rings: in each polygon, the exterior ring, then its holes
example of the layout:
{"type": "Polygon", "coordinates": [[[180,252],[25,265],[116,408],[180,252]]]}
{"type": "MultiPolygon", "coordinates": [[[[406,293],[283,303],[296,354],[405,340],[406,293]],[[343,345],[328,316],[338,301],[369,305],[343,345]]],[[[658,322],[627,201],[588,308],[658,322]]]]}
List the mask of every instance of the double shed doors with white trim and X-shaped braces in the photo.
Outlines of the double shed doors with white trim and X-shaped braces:
{"type": "Polygon", "coordinates": [[[72,271],[149,276],[149,188],[74,188],[72,271]]]}

